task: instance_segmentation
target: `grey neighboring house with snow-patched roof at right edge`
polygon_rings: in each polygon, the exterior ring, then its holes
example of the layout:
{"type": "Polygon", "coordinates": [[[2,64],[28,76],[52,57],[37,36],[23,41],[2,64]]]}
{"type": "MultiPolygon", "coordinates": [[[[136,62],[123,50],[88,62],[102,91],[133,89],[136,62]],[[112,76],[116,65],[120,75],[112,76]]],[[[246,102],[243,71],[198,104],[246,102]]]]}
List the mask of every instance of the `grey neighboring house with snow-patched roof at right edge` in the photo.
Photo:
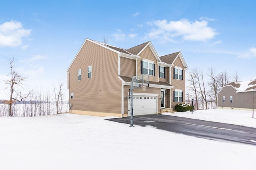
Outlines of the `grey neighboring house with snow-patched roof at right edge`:
{"type": "Polygon", "coordinates": [[[218,108],[252,109],[256,105],[256,80],[231,82],[218,93],[218,108]],[[253,96],[254,95],[254,96],[253,96]]]}

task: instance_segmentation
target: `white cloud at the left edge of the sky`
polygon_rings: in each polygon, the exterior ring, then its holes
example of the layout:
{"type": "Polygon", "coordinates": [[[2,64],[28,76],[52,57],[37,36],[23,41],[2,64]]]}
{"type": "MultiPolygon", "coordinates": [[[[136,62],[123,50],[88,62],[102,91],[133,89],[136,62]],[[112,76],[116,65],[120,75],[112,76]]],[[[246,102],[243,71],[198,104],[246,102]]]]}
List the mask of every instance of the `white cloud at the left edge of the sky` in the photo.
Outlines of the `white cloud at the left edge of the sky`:
{"type": "Polygon", "coordinates": [[[31,29],[24,29],[18,21],[5,22],[0,25],[0,47],[20,46],[22,45],[22,38],[28,37],[30,32],[31,29]]]}

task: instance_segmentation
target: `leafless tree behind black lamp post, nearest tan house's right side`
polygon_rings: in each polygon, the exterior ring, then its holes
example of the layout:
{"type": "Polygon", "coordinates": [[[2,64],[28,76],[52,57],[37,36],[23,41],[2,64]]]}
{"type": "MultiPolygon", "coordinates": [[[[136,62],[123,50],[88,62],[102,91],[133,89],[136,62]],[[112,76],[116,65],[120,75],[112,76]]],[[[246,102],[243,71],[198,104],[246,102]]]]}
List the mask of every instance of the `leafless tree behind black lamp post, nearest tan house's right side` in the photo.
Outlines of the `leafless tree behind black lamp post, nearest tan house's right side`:
{"type": "Polygon", "coordinates": [[[196,98],[195,100],[195,109],[198,109],[198,92],[197,92],[197,84],[198,84],[198,80],[197,80],[197,69],[192,69],[190,72],[188,72],[188,82],[190,83],[189,85],[189,89],[192,90],[194,92],[194,96],[196,98]]]}

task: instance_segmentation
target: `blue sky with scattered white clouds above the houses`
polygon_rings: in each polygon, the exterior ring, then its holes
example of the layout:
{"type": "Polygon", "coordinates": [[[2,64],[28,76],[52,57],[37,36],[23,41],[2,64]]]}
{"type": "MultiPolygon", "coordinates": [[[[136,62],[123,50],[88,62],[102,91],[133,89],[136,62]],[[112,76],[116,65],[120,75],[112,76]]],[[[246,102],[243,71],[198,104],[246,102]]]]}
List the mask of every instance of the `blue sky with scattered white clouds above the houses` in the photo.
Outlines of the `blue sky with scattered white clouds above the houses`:
{"type": "MultiPolygon", "coordinates": [[[[26,89],[66,83],[86,38],[124,49],[151,41],[159,56],[181,51],[188,67],[255,78],[256,2],[251,0],[9,0],[0,6],[0,79],[9,60],[26,89]]],[[[188,70],[189,71],[189,70],[188,70]]],[[[0,99],[6,98],[0,82],[0,99]]],[[[66,88],[66,84],[65,84],[66,88]]]]}

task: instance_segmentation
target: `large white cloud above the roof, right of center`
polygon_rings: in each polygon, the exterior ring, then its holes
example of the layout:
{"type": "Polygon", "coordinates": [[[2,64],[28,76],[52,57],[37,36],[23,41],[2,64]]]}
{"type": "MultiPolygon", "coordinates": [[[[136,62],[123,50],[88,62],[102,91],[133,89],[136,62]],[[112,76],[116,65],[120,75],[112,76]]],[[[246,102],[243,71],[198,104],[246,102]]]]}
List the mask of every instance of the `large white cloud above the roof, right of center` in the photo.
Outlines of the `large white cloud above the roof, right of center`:
{"type": "Polygon", "coordinates": [[[162,38],[172,40],[174,37],[182,37],[186,41],[207,41],[213,39],[218,33],[215,29],[208,27],[208,22],[189,21],[182,19],[179,21],[157,20],[147,22],[147,25],[156,26],[146,34],[151,39],[162,38]]]}

